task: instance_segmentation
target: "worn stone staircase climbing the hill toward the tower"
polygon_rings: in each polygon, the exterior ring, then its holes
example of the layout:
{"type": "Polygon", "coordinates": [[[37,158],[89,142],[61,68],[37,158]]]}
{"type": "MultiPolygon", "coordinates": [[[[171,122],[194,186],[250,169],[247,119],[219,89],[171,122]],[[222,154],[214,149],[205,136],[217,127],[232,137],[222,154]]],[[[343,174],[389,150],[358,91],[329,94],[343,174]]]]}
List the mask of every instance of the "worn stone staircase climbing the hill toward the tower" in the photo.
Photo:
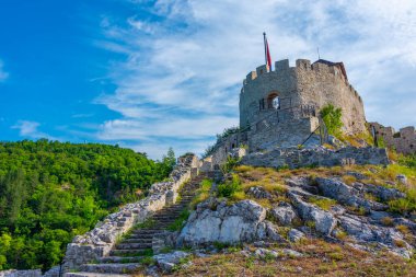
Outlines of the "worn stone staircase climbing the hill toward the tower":
{"type": "Polygon", "coordinates": [[[181,212],[188,208],[199,183],[207,175],[199,174],[187,182],[180,191],[180,200],[157,211],[146,222],[138,224],[109,252],[108,256],[81,266],[78,273],[67,273],[66,277],[128,276],[141,266],[141,261],[152,256],[153,236],[164,232],[181,212]]]}

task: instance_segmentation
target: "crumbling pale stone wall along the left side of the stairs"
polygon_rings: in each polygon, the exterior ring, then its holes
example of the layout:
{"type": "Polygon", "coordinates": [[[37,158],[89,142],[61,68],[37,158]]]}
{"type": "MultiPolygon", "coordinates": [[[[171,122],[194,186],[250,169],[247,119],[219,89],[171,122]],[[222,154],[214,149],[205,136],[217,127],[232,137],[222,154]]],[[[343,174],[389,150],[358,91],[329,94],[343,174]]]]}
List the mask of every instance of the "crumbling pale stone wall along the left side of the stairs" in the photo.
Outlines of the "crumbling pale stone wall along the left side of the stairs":
{"type": "Polygon", "coordinates": [[[153,184],[147,198],[127,204],[99,222],[90,232],[76,236],[67,247],[65,270],[77,269],[82,264],[108,255],[117,239],[125,232],[165,205],[173,204],[180,186],[189,180],[192,170],[197,166],[198,160],[195,155],[180,158],[170,175],[172,181],[153,184]]]}

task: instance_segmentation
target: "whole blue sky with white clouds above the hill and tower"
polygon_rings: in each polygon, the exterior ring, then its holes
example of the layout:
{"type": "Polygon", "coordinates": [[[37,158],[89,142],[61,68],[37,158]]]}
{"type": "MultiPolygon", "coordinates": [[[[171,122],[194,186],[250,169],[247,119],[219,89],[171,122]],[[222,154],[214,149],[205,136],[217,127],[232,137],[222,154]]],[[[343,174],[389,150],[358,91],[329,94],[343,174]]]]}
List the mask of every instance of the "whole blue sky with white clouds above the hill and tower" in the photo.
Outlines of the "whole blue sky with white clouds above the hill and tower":
{"type": "Polygon", "coordinates": [[[0,140],[203,152],[263,60],[344,61],[368,120],[416,125],[416,2],[0,0],[0,140]]]}

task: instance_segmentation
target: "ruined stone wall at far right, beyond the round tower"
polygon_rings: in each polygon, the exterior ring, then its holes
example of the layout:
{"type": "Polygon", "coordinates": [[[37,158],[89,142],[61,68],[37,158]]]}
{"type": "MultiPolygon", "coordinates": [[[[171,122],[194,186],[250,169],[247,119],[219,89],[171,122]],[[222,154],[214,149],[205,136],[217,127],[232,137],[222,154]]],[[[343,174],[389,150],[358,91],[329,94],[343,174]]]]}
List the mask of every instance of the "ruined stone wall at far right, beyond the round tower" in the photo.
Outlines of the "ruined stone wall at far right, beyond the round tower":
{"type": "Polygon", "coordinates": [[[416,153],[416,131],[415,127],[408,126],[395,131],[393,127],[384,127],[379,123],[370,123],[375,128],[375,136],[383,139],[389,148],[395,149],[398,153],[416,153]]]}

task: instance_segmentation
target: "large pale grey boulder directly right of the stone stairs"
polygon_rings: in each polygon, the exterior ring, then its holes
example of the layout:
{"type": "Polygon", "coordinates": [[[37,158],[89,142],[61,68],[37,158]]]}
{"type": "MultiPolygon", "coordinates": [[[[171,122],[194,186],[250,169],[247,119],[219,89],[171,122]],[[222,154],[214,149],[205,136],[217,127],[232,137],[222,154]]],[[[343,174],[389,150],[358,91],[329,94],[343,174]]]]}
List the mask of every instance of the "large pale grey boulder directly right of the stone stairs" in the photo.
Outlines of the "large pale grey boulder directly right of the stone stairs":
{"type": "Polygon", "coordinates": [[[238,243],[279,240],[276,227],[265,220],[266,209],[253,200],[209,199],[197,206],[178,236],[180,244],[204,245],[213,242],[238,243]]]}

